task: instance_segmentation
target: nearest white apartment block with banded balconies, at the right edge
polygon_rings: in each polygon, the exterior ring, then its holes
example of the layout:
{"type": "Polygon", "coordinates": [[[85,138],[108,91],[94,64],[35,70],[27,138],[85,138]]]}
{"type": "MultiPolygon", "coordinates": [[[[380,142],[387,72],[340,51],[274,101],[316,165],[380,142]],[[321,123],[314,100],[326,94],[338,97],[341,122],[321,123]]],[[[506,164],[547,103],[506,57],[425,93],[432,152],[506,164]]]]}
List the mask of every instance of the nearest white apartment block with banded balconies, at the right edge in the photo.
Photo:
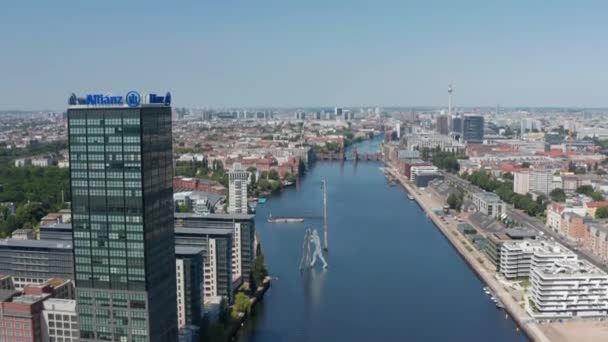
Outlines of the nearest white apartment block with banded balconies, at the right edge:
{"type": "Polygon", "coordinates": [[[605,316],[608,274],[584,260],[560,260],[532,268],[530,283],[537,317],[605,316]]]}

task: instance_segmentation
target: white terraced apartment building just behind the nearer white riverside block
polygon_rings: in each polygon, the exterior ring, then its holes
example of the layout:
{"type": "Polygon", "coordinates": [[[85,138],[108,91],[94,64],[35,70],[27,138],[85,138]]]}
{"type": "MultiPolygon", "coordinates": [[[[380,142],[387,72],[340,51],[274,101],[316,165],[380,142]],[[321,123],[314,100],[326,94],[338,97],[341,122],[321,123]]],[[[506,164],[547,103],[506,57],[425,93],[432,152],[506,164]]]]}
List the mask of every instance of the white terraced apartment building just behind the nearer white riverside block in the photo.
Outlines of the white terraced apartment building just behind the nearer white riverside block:
{"type": "Polygon", "coordinates": [[[559,260],[576,260],[576,254],[550,241],[505,241],[500,248],[500,272],[507,279],[530,276],[534,266],[551,265],[559,260]]]}

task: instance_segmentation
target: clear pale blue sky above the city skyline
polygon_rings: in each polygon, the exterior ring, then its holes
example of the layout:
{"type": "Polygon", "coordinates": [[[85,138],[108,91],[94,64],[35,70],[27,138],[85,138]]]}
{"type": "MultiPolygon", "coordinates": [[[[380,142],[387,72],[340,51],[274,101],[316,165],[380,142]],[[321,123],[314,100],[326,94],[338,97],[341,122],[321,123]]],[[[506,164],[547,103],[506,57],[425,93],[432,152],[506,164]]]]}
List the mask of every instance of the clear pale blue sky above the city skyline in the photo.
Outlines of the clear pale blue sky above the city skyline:
{"type": "Polygon", "coordinates": [[[608,106],[606,1],[7,1],[0,109],[608,106]]]}

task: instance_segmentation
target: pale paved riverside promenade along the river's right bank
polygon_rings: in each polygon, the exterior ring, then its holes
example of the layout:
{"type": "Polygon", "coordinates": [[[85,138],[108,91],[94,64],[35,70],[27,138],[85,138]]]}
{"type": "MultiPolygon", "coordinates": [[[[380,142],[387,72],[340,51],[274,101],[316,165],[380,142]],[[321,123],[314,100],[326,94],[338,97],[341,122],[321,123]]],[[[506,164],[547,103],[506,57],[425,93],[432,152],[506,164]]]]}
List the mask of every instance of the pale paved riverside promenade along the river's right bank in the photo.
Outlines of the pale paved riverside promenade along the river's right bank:
{"type": "Polygon", "coordinates": [[[386,165],[386,171],[388,171],[393,177],[399,180],[403,187],[412,195],[414,200],[420,205],[420,207],[427,213],[429,218],[433,221],[435,226],[441,231],[441,233],[450,241],[452,246],[460,253],[463,259],[469,264],[469,266],[477,273],[479,278],[496,294],[505,306],[505,310],[517,323],[520,329],[532,340],[536,342],[550,342],[551,340],[543,333],[538,324],[530,317],[524,309],[517,303],[517,301],[509,294],[509,292],[498,282],[494,277],[494,272],[484,267],[483,259],[479,259],[476,255],[476,250],[467,250],[467,242],[460,239],[460,233],[456,229],[455,224],[448,222],[442,222],[437,215],[433,212],[433,208],[442,208],[444,199],[436,198],[429,192],[421,193],[419,190],[411,184],[411,182],[404,175],[400,174],[392,165],[386,165]],[[464,242],[463,242],[464,241],[464,242]],[[481,261],[480,261],[481,260],[481,261]]]}

